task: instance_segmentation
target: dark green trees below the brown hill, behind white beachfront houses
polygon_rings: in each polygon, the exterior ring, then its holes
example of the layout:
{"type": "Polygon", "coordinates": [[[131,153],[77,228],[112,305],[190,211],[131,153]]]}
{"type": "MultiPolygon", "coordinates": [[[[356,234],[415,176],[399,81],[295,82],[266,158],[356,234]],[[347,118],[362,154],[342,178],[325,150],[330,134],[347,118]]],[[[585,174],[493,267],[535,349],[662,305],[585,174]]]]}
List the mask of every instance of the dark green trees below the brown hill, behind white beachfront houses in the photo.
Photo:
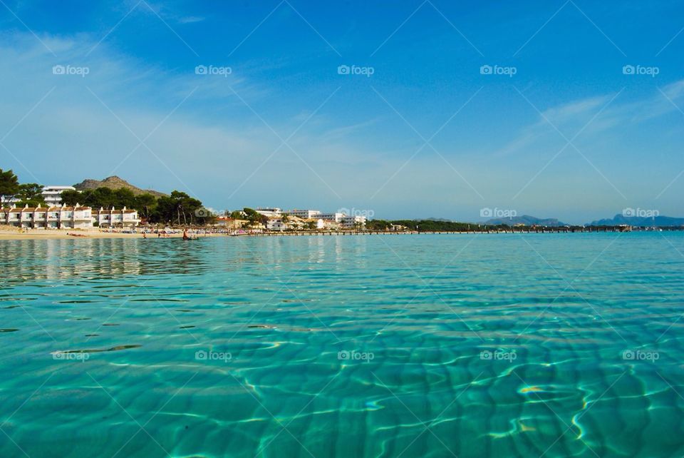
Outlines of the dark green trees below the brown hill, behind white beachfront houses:
{"type": "Polygon", "coordinates": [[[214,216],[202,206],[198,199],[174,190],[171,195],[156,197],[150,193],[135,195],[127,188],[96,188],[83,192],[65,190],[61,193],[62,203],[66,205],[86,205],[95,210],[101,208],[123,207],[138,210],[141,218],[148,223],[167,223],[177,225],[207,224],[214,216]]]}

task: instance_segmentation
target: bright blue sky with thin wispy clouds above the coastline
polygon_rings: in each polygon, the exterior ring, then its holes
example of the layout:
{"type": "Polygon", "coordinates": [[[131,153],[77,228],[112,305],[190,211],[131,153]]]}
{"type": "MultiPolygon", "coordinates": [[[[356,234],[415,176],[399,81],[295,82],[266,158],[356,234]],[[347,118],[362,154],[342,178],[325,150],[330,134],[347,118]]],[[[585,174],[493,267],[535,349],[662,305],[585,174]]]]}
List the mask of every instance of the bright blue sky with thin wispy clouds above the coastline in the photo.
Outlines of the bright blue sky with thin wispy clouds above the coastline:
{"type": "Polygon", "coordinates": [[[1,0],[0,168],[219,210],[684,216],[683,51],[669,0],[1,0]]]}

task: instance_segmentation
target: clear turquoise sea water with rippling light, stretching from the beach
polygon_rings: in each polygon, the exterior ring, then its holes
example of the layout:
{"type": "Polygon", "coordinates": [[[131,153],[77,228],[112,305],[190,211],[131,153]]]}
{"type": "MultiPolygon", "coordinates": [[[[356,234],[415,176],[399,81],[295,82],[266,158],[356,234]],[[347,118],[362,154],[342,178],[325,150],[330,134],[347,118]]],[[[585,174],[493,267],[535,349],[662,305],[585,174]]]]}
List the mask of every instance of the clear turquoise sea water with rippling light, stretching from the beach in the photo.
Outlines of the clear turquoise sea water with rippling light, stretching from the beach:
{"type": "Polygon", "coordinates": [[[682,253],[682,233],[0,242],[0,456],[681,456],[682,253]]]}

